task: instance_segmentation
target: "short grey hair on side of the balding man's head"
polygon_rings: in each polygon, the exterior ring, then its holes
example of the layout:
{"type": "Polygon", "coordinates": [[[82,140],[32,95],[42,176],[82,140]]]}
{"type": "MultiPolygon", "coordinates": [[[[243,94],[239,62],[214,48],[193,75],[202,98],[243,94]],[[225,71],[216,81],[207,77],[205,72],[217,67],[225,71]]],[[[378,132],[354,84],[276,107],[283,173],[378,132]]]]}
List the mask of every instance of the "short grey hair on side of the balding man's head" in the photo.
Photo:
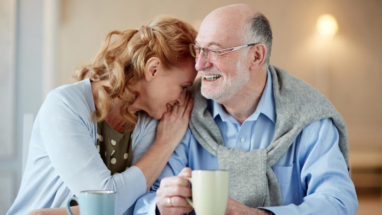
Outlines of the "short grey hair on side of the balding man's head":
{"type": "Polygon", "coordinates": [[[247,21],[247,28],[244,30],[243,44],[262,43],[267,47],[264,66],[269,65],[272,48],[272,30],[267,17],[263,14],[256,14],[247,21]]]}

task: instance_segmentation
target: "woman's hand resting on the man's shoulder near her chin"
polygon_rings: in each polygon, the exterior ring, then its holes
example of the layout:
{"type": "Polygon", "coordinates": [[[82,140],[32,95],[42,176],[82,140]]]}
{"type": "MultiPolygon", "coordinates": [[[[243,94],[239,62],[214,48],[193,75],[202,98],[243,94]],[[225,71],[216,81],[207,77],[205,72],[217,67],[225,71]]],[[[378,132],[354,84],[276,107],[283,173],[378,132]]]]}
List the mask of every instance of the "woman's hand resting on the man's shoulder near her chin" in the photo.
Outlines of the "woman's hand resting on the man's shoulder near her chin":
{"type": "Polygon", "coordinates": [[[185,93],[184,103],[175,104],[165,112],[157,127],[157,143],[170,144],[174,149],[181,142],[189,126],[193,99],[190,92],[185,93]]]}

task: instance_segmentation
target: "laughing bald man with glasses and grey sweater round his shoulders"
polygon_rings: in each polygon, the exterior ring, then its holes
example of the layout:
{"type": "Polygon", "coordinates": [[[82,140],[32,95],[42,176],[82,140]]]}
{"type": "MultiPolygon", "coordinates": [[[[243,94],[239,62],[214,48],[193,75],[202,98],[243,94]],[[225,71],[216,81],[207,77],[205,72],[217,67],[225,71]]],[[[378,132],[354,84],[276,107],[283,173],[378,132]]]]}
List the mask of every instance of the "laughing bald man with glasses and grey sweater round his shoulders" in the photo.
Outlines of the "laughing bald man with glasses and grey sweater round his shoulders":
{"type": "Polygon", "coordinates": [[[202,75],[191,89],[190,129],[134,213],[191,212],[183,177],[224,169],[227,215],[356,214],[343,118],[312,87],[269,64],[267,18],[246,4],[218,8],[190,46],[202,75]]]}

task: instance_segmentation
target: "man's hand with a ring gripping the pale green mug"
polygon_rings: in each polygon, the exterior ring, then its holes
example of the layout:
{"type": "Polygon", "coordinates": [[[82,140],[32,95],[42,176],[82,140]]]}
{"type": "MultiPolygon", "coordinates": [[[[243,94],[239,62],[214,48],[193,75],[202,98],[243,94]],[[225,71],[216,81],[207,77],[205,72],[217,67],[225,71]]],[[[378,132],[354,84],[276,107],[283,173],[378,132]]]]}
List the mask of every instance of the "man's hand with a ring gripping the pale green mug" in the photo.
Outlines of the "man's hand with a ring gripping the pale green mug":
{"type": "Polygon", "coordinates": [[[183,215],[193,209],[185,197],[191,197],[189,181],[191,169],[184,168],[178,176],[164,178],[157,190],[157,207],[161,215],[183,215]]]}

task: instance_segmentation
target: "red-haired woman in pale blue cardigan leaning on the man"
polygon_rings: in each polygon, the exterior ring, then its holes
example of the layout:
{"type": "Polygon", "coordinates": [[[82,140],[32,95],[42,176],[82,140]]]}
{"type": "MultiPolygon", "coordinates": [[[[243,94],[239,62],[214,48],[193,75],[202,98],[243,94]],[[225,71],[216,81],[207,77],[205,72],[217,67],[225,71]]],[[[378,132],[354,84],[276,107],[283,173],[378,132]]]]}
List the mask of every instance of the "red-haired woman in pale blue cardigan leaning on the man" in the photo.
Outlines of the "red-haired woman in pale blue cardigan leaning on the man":
{"type": "Polygon", "coordinates": [[[93,63],[77,70],[79,82],[53,90],[41,106],[7,214],[64,207],[83,190],[116,191],[117,214],[131,212],[186,132],[195,36],[172,17],[110,32],[93,63]]]}

